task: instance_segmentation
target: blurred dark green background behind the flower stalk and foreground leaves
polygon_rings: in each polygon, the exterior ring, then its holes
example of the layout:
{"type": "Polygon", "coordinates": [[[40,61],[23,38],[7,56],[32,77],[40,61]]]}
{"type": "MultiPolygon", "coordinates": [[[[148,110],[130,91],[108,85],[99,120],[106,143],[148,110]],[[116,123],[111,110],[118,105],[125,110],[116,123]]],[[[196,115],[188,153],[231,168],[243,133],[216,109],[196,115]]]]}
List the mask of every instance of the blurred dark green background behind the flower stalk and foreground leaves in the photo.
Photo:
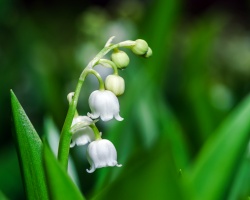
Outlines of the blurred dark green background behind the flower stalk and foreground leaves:
{"type": "MultiPolygon", "coordinates": [[[[123,167],[87,174],[86,148],[74,148],[79,187],[88,198],[103,191],[102,199],[123,193],[136,199],[138,192],[145,199],[166,199],[166,194],[181,199],[174,192],[178,176],[250,89],[249,11],[249,1],[233,0],[0,0],[0,199],[1,194],[25,199],[12,139],[10,89],[41,136],[58,132],[67,94],[113,35],[115,42],[145,39],[153,56],[143,59],[125,49],[131,59],[120,72],[126,81],[119,97],[125,120],[97,123],[115,144],[123,167]]],[[[95,89],[97,81],[88,77],[78,104],[81,115],[89,111],[87,99],[95,89]]],[[[246,182],[234,186],[238,169],[221,199],[249,195],[241,185],[246,182]]]]}

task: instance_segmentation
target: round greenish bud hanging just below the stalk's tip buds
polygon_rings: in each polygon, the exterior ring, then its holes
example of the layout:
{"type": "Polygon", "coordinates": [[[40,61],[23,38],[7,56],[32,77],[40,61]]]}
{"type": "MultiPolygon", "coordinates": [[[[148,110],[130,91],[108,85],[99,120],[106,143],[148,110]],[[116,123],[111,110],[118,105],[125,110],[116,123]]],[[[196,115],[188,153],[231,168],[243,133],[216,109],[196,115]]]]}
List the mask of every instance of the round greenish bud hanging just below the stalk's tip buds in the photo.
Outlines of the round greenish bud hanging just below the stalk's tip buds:
{"type": "Polygon", "coordinates": [[[129,64],[129,57],[124,51],[116,50],[111,55],[111,60],[116,64],[118,69],[124,69],[129,64]]]}

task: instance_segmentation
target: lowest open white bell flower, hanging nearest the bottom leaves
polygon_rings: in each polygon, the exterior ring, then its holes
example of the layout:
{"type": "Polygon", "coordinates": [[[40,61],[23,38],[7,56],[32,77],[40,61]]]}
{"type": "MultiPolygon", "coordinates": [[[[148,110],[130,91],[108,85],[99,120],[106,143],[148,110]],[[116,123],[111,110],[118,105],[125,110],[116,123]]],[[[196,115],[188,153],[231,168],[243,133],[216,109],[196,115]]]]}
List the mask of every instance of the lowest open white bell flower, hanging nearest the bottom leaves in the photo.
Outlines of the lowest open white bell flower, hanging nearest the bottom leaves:
{"type": "Polygon", "coordinates": [[[87,149],[87,159],[90,163],[88,173],[94,172],[102,167],[121,167],[117,163],[117,153],[114,145],[106,139],[99,139],[89,144],[87,149]]]}

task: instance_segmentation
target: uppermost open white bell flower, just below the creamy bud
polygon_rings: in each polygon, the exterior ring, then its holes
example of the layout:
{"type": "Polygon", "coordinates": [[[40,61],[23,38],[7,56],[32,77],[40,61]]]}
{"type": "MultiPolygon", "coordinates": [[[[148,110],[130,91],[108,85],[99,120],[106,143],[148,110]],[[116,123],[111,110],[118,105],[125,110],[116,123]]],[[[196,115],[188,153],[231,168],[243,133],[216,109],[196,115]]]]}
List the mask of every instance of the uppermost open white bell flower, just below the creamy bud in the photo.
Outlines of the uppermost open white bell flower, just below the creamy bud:
{"type": "Polygon", "coordinates": [[[119,115],[119,101],[111,91],[96,90],[92,92],[89,96],[89,107],[92,113],[88,113],[88,116],[92,119],[100,117],[103,121],[109,121],[115,117],[118,121],[123,120],[119,115]]]}

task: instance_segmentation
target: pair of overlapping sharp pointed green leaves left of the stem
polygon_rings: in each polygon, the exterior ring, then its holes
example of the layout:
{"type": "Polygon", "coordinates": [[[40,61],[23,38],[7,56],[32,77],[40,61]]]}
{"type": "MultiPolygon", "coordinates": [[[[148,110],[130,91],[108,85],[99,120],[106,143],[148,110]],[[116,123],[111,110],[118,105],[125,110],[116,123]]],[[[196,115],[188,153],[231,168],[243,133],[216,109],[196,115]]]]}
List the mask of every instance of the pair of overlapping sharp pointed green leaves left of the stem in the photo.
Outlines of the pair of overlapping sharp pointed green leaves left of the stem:
{"type": "Polygon", "coordinates": [[[13,91],[11,91],[11,103],[16,128],[15,138],[27,198],[84,199],[59,165],[47,143],[43,145],[13,91]]]}

